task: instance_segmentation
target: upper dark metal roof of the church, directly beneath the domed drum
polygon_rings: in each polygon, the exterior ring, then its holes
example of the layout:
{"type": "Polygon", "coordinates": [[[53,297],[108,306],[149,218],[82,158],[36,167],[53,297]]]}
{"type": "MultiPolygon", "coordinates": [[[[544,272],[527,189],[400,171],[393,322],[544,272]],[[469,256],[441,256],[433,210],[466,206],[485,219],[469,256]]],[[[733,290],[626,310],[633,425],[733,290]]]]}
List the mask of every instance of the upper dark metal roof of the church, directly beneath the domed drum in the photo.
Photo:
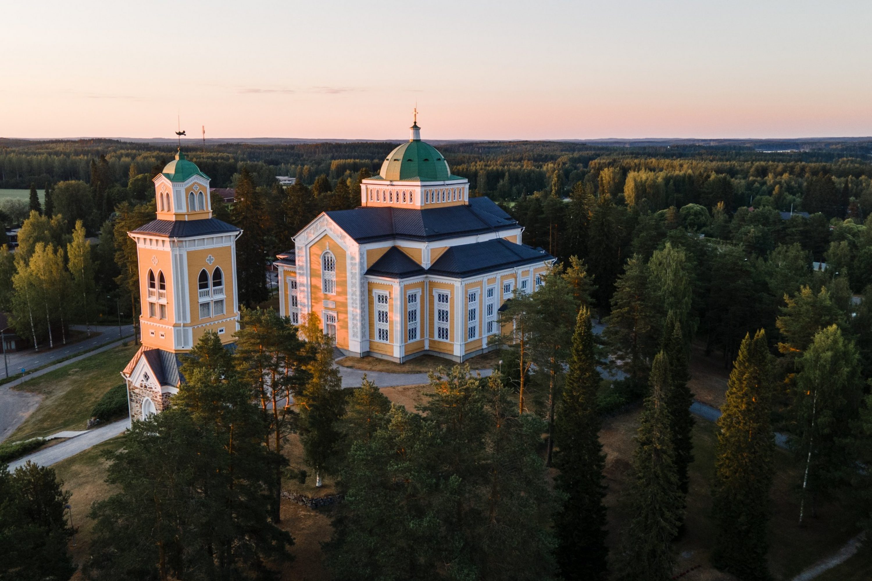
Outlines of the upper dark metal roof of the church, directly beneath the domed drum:
{"type": "Polygon", "coordinates": [[[327,215],[358,244],[393,238],[443,240],[518,226],[516,220],[488,198],[472,198],[468,205],[463,206],[423,210],[358,207],[327,212],[327,215]]]}

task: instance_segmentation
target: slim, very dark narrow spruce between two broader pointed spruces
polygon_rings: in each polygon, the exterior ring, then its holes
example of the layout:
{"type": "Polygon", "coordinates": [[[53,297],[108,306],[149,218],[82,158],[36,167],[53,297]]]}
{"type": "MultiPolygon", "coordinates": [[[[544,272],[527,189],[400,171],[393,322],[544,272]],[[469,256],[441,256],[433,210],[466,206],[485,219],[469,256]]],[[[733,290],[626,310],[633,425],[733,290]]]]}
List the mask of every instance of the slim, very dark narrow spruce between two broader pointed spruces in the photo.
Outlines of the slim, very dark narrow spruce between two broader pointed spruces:
{"type": "Polygon", "coordinates": [[[672,449],[675,450],[675,471],[678,488],[687,494],[687,470],[693,462],[693,394],[687,386],[691,376],[687,371],[687,348],[681,332],[681,321],[672,311],[666,317],[663,330],[663,350],[669,359],[671,385],[666,392],[666,407],[671,417],[672,449]]]}

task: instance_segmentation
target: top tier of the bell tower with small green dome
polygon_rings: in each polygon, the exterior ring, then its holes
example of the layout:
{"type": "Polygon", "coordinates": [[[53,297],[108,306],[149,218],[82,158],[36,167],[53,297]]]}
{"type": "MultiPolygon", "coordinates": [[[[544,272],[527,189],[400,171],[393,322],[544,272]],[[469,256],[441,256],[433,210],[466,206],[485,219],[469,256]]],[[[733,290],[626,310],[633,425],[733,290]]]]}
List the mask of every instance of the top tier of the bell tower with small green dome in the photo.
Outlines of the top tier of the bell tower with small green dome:
{"type": "Polygon", "coordinates": [[[153,181],[158,220],[212,218],[209,177],[185,157],[181,148],[153,181]]]}

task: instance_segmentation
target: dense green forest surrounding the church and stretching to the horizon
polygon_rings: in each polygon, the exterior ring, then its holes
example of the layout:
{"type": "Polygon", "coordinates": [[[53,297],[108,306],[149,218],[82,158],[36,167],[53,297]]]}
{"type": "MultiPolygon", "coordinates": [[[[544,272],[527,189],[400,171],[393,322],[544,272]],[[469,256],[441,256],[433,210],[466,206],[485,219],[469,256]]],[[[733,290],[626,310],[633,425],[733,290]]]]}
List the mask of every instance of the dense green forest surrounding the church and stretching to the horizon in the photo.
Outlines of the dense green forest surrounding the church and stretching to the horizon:
{"type": "MultiPolygon", "coordinates": [[[[235,187],[232,206],[214,196],[213,207],[244,231],[242,331],[232,354],[204,337],[170,412],[138,422],[126,451],[107,453],[118,492],[93,506],[86,574],[274,577],[293,544],[278,526],[283,483],[306,478],[288,467],[294,435],[295,465],[336,478],[344,495],[324,544],[332,578],[665,581],[680,572],[675,543],[691,510],[694,357],[729,372],[711,475],[714,567],[773,579],[776,434],[802,475],[791,485],[796,524],[812,526],[835,503],[857,530],[872,529],[870,145],[439,145],[475,195],[501,204],[525,226],[524,242],[556,261],[541,289],[509,301],[494,375],[439,369],[416,410],[371,382],[342,389],[317,317],[296,328],[262,308],[269,261],[318,213],[358,206],[360,180],[392,145],[191,151],[213,186],[235,187]],[[276,175],[297,182],[279,186],[276,175]],[[607,544],[599,434],[627,409],[638,412],[630,517],[607,544]],[[152,500],[162,495],[166,503],[152,500]],[[153,511],[140,510],[143,498],[153,511]]],[[[173,151],[0,147],[0,186],[32,188],[26,207],[0,205],[7,226],[24,220],[15,252],[0,253],[0,307],[19,334],[63,341],[71,322],[93,321],[115,300],[138,313],[126,231],[153,220],[151,178],[173,151]]],[[[57,509],[64,493],[51,474],[16,472],[0,488],[40,479],[57,509]]],[[[63,577],[63,518],[29,525],[10,507],[15,526],[52,531],[46,563],[63,577]]]]}

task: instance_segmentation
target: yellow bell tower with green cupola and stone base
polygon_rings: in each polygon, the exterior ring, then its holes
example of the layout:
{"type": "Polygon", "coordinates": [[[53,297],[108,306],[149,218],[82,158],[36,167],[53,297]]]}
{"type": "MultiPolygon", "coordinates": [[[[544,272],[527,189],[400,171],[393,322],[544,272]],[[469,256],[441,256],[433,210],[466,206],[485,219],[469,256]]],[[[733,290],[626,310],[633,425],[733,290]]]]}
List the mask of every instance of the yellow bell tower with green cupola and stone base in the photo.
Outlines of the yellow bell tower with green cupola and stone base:
{"type": "Polygon", "coordinates": [[[212,217],[209,178],[185,154],[154,177],[157,220],[127,233],[139,259],[142,346],[125,376],[131,415],[160,412],[182,381],[178,355],[207,331],[239,328],[235,242],[242,230],[212,217]]]}

